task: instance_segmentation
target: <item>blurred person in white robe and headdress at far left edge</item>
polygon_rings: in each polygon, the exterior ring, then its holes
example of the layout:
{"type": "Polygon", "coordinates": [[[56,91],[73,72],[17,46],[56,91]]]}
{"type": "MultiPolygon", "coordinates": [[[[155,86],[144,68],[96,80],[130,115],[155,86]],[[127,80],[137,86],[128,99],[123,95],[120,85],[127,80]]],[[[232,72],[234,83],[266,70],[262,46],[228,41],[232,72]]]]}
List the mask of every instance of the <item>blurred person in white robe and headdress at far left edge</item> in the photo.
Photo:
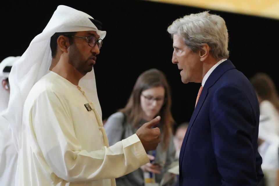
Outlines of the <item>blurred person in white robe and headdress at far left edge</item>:
{"type": "Polygon", "coordinates": [[[15,185],[15,173],[17,170],[17,151],[12,142],[12,133],[8,129],[8,121],[2,117],[8,107],[10,85],[8,76],[12,65],[20,56],[10,56],[0,63],[0,185],[15,185]]]}

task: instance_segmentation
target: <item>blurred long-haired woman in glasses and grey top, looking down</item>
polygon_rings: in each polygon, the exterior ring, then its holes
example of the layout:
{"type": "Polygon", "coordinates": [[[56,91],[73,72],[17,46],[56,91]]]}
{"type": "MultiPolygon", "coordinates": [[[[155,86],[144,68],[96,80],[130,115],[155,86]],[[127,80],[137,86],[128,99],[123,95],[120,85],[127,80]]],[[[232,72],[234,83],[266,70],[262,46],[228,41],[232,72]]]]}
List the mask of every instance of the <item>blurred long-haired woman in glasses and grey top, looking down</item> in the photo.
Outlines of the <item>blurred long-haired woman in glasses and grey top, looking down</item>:
{"type": "Polygon", "coordinates": [[[135,133],[146,121],[161,116],[157,125],[161,131],[161,142],[156,151],[148,151],[147,163],[139,169],[116,179],[117,185],[142,186],[144,173],[155,173],[156,183],[160,183],[168,166],[174,161],[173,143],[174,119],[171,115],[171,94],[165,75],[157,69],[144,71],[138,78],[125,108],[111,115],[104,125],[110,145],[135,133]],[[154,157],[155,155],[155,157],[154,157]]]}

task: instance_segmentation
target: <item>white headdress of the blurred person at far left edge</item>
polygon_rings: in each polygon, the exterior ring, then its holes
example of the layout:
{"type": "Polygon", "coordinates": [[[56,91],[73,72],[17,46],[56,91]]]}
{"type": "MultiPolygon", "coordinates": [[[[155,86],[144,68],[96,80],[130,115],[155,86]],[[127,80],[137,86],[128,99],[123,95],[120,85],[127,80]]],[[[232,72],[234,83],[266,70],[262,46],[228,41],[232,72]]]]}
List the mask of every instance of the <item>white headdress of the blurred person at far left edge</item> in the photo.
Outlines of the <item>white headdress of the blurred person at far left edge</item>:
{"type": "MultiPolygon", "coordinates": [[[[7,79],[10,71],[4,71],[6,67],[12,67],[12,65],[20,58],[20,56],[14,57],[10,56],[8,58],[5,58],[1,63],[0,63],[0,83],[4,79],[7,79]]],[[[10,93],[3,89],[2,86],[0,86],[0,112],[5,110],[8,107],[8,102],[9,102],[9,97],[10,93]]]]}

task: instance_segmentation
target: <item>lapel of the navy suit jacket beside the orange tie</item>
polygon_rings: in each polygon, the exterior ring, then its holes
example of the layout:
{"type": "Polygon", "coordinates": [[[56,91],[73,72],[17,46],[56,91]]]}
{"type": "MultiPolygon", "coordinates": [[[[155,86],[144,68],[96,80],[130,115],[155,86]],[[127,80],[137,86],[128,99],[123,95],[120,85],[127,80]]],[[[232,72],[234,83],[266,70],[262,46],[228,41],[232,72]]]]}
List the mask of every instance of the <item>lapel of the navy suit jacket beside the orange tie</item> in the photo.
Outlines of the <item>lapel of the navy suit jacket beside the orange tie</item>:
{"type": "Polygon", "coordinates": [[[199,111],[201,110],[201,107],[205,101],[205,98],[208,94],[208,89],[214,85],[214,83],[228,70],[230,69],[233,69],[235,68],[235,66],[232,64],[232,62],[230,60],[226,60],[224,62],[222,62],[220,65],[218,65],[213,71],[212,73],[210,74],[210,76],[208,77],[208,79],[206,80],[205,82],[205,85],[203,87],[203,90],[201,91],[201,95],[198,99],[198,103],[196,105],[196,108],[194,109],[194,112],[192,114],[192,117],[190,119],[190,122],[189,122],[189,126],[188,126],[188,129],[187,129],[187,132],[184,136],[184,140],[183,140],[183,143],[182,143],[182,146],[181,146],[181,150],[180,150],[180,154],[179,154],[179,172],[181,173],[181,164],[182,164],[182,161],[183,161],[183,157],[184,157],[184,153],[185,153],[185,146],[186,146],[186,143],[187,143],[187,140],[188,140],[188,136],[189,136],[189,133],[191,131],[191,128],[194,124],[194,121],[196,120],[196,117],[199,113],[199,111]]]}

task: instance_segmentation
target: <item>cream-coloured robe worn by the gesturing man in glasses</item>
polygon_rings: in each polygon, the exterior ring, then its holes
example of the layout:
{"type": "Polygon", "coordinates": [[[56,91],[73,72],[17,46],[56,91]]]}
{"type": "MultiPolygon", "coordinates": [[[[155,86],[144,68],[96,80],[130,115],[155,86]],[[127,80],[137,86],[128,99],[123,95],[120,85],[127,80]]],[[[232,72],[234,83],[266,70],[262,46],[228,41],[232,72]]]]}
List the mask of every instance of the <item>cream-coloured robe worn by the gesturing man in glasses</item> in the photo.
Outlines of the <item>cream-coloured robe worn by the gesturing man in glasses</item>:
{"type": "Polygon", "coordinates": [[[20,186],[115,186],[114,178],[149,162],[136,134],[107,147],[94,109],[83,87],[52,71],[33,86],[23,110],[20,186]]]}

